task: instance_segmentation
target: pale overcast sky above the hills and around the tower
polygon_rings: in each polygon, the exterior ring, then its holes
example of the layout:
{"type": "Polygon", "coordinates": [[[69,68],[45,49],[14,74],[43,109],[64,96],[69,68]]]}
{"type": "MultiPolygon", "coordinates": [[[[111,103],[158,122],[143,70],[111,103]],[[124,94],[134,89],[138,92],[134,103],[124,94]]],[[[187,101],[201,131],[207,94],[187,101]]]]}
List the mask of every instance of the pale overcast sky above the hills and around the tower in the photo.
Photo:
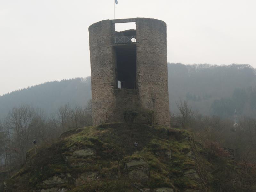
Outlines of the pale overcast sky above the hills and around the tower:
{"type": "MultiPolygon", "coordinates": [[[[165,21],[168,62],[256,67],[255,9],[255,0],[118,0],[116,19],[165,21]]],[[[113,18],[114,0],[1,0],[0,95],[90,76],[88,27],[113,18]]]]}

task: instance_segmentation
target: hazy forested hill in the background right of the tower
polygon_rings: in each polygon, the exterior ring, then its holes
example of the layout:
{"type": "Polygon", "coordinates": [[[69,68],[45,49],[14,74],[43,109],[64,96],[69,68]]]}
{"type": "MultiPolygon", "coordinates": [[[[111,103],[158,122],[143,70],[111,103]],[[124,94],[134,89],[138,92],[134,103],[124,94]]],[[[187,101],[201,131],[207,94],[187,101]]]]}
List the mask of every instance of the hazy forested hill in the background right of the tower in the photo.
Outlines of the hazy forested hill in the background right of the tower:
{"type": "Polygon", "coordinates": [[[168,65],[171,111],[176,102],[188,100],[193,110],[204,115],[230,117],[256,114],[256,75],[250,65],[168,65]]]}

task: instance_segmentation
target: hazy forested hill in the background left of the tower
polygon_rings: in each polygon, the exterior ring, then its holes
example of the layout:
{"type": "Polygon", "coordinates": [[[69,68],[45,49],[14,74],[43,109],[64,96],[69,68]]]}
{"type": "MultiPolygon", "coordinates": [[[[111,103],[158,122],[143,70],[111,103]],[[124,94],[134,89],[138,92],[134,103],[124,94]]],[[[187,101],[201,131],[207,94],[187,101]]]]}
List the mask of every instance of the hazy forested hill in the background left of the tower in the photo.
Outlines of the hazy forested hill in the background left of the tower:
{"type": "Polygon", "coordinates": [[[21,104],[42,108],[50,114],[66,103],[71,107],[85,106],[91,95],[90,77],[43,83],[0,96],[0,119],[21,104]]]}

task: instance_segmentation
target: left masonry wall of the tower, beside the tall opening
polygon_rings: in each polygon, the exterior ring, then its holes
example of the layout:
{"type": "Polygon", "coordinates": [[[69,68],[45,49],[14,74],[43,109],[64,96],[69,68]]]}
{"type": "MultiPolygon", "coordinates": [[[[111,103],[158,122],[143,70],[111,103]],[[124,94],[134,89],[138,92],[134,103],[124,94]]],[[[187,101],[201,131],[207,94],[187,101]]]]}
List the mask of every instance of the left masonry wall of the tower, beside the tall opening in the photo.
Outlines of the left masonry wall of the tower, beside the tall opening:
{"type": "Polygon", "coordinates": [[[89,27],[89,44],[92,84],[93,124],[107,122],[108,114],[115,106],[115,63],[112,37],[115,27],[111,20],[104,20],[89,27]]]}

